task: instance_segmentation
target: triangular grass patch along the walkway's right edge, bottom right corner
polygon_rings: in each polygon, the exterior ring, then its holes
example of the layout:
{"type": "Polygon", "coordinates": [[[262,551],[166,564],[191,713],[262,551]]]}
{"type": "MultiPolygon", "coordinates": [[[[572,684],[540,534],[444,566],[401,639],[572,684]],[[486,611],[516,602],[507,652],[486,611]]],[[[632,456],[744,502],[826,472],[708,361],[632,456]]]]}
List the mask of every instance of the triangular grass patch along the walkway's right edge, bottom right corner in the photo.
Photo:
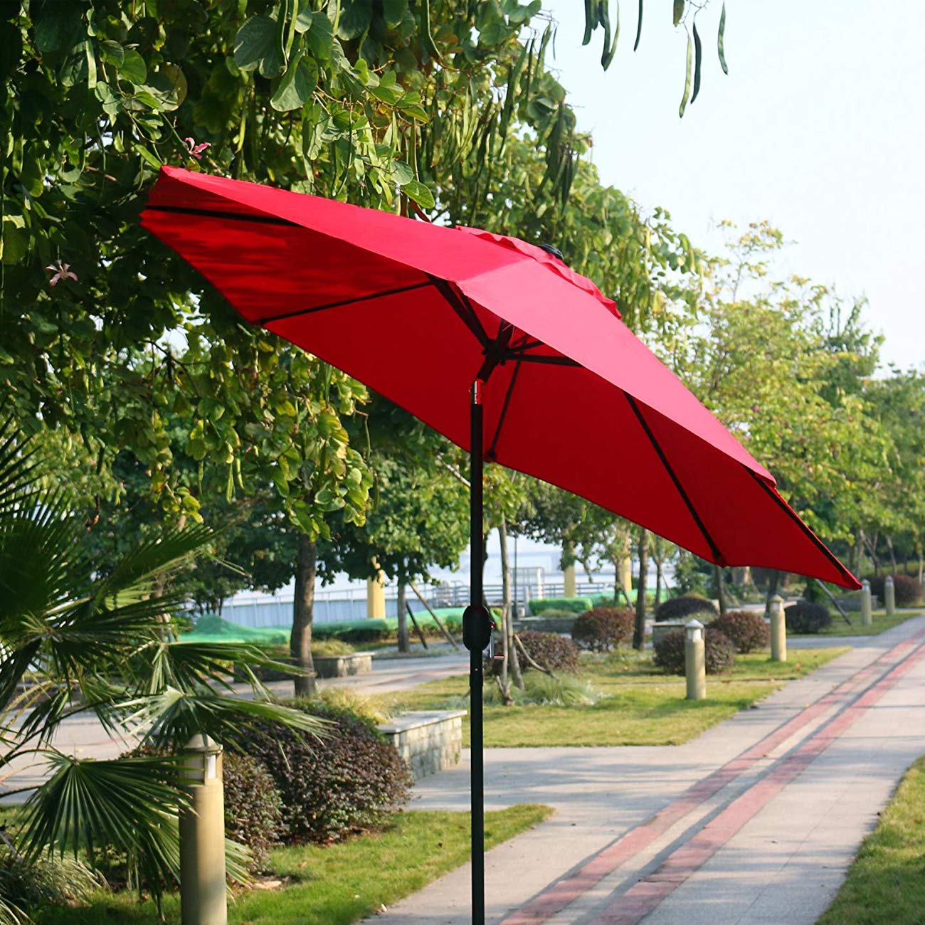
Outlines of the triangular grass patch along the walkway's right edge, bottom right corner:
{"type": "Polygon", "coordinates": [[[818,925],[920,925],[925,910],[925,759],[906,772],[818,925]]]}

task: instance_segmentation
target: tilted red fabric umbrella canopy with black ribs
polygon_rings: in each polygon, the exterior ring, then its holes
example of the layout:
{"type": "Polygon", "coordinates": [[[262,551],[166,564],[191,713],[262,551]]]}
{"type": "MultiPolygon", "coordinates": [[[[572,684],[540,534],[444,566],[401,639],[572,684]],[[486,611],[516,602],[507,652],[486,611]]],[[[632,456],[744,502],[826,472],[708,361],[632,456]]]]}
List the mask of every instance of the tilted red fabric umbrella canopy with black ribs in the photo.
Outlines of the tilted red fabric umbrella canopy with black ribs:
{"type": "Polygon", "coordinates": [[[858,586],[614,302],[541,248],[174,167],[142,223],[248,321],[463,449],[479,378],[488,460],[709,561],[858,586]]]}

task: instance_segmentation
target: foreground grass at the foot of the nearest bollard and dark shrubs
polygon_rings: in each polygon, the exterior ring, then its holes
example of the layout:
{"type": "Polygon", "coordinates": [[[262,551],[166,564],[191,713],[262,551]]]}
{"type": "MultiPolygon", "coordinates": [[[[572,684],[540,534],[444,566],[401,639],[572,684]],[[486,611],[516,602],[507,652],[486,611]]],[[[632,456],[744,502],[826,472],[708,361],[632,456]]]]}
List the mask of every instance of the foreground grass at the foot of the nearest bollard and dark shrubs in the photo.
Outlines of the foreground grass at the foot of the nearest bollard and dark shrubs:
{"type": "MultiPolygon", "coordinates": [[[[549,819],[552,810],[523,804],[485,814],[486,847],[549,819]]],[[[235,925],[348,925],[469,859],[469,817],[453,812],[405,812],[385,832],[327,847],[277,848],[270,866],[283,886],[241,894],[228,907],[235,925]]],[[[179,922],[179,898],[168,896],[165,920],[179,922]]],[[[152,903],[135,894],[99,894],[90,906],[48,909],[38,925],[155,925],[152,903]]]]}

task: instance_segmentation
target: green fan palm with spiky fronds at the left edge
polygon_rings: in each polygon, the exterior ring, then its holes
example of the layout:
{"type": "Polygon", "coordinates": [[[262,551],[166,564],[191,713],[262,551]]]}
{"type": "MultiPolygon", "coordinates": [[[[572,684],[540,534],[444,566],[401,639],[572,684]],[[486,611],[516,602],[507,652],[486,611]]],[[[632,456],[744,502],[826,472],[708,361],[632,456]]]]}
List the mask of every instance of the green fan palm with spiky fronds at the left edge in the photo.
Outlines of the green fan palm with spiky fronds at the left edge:
{"type": "MultiPolygon", "coordinates": [[[[104,570],[86,552],[86,525],[67,493],[43,488],[42,472],[30,441],[10,422],[0,425],[0,796],[31,789],[3,790],[23,762],[47,765],[19,833],[3,836],[6,851],[26,861],[68,854],[91,865],[102,849],[115,851],[131,881],[159,900],[179,875],[184,796],[171,756],[191,735],[233,744],[248,722],[269,719],[324,730],[265,697],[254,672],[266,663],[259,650],[187,644],[172,631],[183,591],[159,589],[207,553],[207,528],[166,529],[104,570]],[[235,696],[230,662],[255,696],[235,696]],[[81,713],[94,714],[115,739],[154,746],[154,757],[82,759],[56,748],[62,724],[81,713]]],[[[5,919],[21,913],[0,879],[5,919]]]]}

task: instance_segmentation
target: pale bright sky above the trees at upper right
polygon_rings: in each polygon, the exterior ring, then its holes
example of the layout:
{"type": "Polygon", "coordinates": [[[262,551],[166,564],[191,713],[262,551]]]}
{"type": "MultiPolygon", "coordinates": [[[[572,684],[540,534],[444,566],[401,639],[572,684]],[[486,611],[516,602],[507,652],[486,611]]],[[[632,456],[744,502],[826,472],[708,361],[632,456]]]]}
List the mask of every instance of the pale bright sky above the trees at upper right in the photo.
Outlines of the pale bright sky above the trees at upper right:
{"type": "MultiPolygon", "coordinates": [[[[671,4],[647,0],[633,53],[636,4],[623,0],[620,43],[600,67],[603,31],[582,46],[578,0],[547,0],[559,21],[555,58],[579,128],[594,139],[600,178],[644,213],[718,251],[722,219],[768,219],[793,243],[779,264],[866,296],[882,359],[925,365],[919,267],[925,202],[925,4],[727,0],[697,18],[704,45],[697,102],[678,117],[686,34],[671,4]]],[[[611,19],[615,0],[611,0],[611,19]]]]}

